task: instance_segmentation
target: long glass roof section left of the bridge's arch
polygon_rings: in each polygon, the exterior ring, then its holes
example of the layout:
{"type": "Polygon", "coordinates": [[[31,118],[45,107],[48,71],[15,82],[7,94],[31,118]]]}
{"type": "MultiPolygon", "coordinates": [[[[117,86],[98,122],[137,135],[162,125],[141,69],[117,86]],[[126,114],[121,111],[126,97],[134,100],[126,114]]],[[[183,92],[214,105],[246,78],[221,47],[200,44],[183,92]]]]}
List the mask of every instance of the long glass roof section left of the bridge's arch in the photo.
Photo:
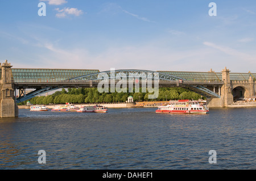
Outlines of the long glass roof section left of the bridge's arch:
{"type": "Polygon", "coordinates": [[[14,82],[59,82],[82,75],[98,73],[89,69],[11,69],[14,82]]]}

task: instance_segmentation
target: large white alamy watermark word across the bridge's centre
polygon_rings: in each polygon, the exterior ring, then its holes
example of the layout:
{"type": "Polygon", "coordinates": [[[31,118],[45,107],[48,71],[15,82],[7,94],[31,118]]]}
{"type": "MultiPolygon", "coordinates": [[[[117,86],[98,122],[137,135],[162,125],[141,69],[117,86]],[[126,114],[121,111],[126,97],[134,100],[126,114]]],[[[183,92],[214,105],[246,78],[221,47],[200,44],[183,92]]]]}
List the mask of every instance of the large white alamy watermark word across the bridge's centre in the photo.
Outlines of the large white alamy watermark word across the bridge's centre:
{"type": "Polygon", "coordinates": [[[129,74],[123,72],[115,73],[115,69],[110,69],[110,74],[100,73],[97,77],[98,92],[127,92],[127,85],[129,92],[149,92],[148,99],[156,99],[159,95],[159,73],[151,73],[147,71],[130,71],[129,74]],[[153,75],[154,74],[154,75],[153,75]],[[154,87],[153,85],[154,80],[154,87]],[[118,81],[118,82],[117,82],[118,81]],[[110,86],[109,86],[110,85],[110,86]],[[140,87],[141,85],[141,87],[140,87]],[[135,89],[134,89],[135,88],[135,89]]]}

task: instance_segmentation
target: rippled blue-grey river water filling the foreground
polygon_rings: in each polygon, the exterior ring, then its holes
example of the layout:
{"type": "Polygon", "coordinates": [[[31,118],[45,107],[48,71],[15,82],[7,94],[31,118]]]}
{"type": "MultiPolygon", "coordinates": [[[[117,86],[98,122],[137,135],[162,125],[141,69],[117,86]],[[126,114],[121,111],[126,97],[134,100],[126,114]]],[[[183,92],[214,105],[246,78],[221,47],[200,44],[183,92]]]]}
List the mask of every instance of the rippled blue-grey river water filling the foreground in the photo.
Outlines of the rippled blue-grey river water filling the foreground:
{"type": "Polygon", "coordinates": [[[256,169],[256,108],[155,110],[19,110],[18,118],[0,119],[0,169],[256,169]],[[209,163],[210,150],[217,163],[209,163]]]}

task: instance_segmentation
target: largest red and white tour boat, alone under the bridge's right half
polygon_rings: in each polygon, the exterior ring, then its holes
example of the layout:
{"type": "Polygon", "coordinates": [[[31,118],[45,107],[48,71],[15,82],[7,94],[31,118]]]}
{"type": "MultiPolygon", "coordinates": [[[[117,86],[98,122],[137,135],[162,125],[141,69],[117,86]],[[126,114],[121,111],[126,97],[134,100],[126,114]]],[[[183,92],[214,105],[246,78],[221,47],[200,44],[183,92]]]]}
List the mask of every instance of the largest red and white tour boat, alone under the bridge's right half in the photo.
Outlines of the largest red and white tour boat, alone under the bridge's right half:
{"type": "Polygon", "coordinates": [[[209,108],[206,104],[196,100],[177,100],[167,103],[167,105],[159,106],[156,113],[207,113],[209,108]]]}

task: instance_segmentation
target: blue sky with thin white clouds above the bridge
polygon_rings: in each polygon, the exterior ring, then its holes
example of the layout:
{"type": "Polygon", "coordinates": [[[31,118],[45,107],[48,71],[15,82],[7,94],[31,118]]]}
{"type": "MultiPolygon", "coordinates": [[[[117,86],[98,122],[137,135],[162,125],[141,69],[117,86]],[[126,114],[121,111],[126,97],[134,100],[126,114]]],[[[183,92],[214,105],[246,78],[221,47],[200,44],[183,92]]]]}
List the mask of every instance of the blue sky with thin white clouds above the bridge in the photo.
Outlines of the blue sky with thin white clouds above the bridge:
{"type": "Polygon", "coordinates": [[[256,73],[256,1],[1,0],[13,68],[256,73]],[[46,3],[46,16],[38,4],[46,3]],[[210,2],[217,16],[209,16],[210,2]]]}

